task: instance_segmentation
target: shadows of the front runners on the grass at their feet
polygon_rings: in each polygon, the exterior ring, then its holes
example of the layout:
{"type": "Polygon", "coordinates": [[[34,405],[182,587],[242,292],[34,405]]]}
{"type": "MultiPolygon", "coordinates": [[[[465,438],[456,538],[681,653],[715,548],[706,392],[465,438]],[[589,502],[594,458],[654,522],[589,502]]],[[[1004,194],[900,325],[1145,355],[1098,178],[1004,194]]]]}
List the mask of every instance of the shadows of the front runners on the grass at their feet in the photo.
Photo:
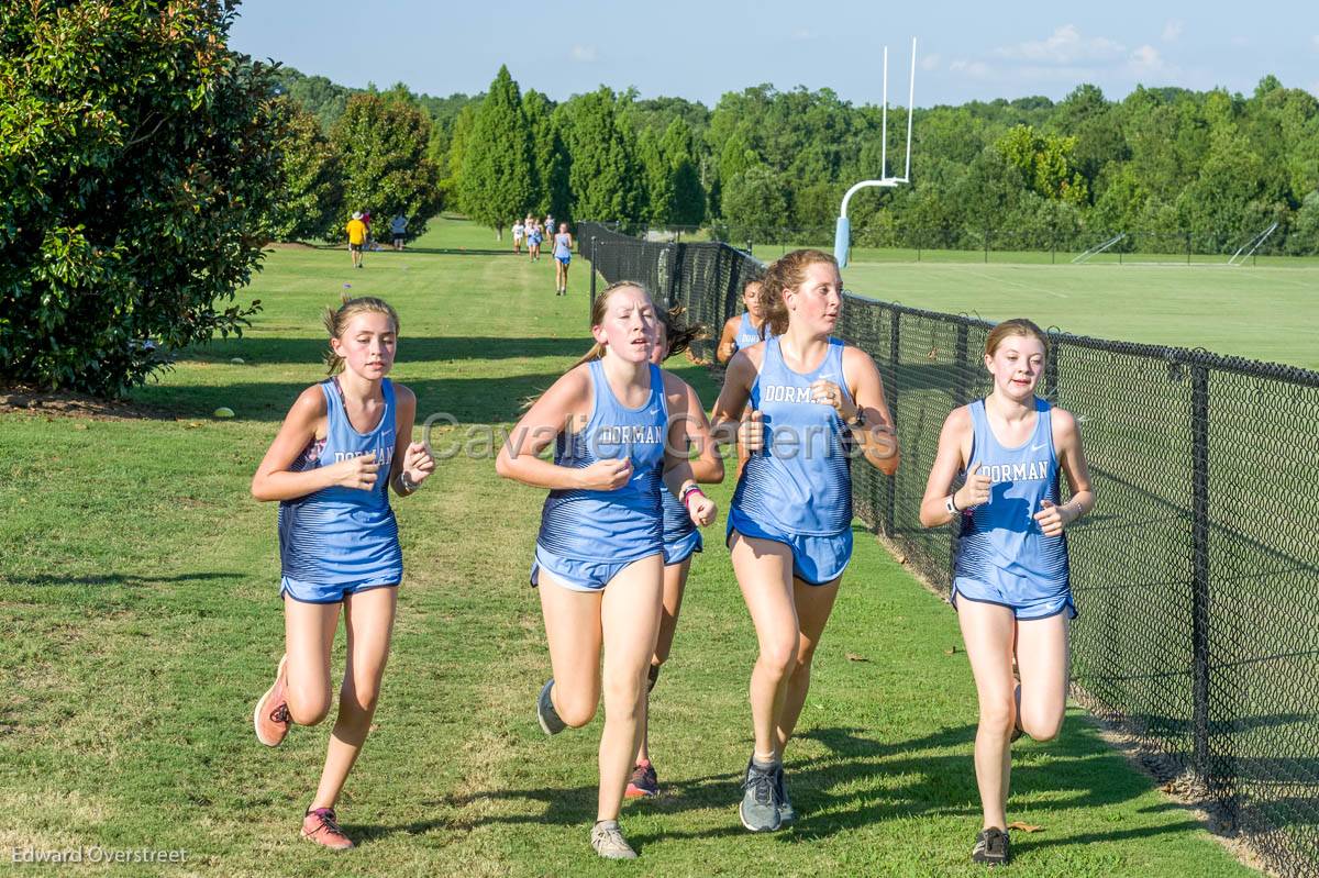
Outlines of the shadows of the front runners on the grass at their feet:
{"type": "MultiPolygon", "coordinates": [[[[782,844],[813,842],[839,832],[892,819],[921,815],[958,816],[967,820],[967,838],[979,828],[979,796],[971,750],[976,726],[947,728],[927,736],[888,744],[871,738],[864,729],[822,728],[801,737],[824,746],[826,754],[793,759],[789,753],[787,783],[801,815],[795,827],[776,837],[782,844]]],[[[663,834],[636,832],[636,846],[671,838],[718,838],[741,834],[735,808],[741,796],[741,766],[729,771],[666,779],[656,799],[625,808],[638,812],[682,813],[727,811],[728,824],[694,832],[663,834]]],[[[1095,726],[1072,717],[1063,736],[1049,745],[1018,745],[1014,753],[1013,791],[1029,798],[1047,792],[1050,807],[1092,808],[1129,802],[1150,790],[1150,780],[1133,771],[1121,754],[1108,747],[1095,726]],[[1037,758],[1047,754],[1047,758],[1037,758]]],[[[529,787],[485,790],[463,796],[446,796],[433,804],[466,808],[489,802],[522,802],[522,813],[484,815],[471,820],[460,816],[415,821],[404,825],[359,827],[363,838],[383,838],[394,833],[415,834],[435,828],[485,824],[584,825],[595,816],[596,788],[529,787]]],[[[1038,805],[1037,805],[1038,807],[1038,805]]],[[[1148,811],[1148,809],[1146,809],[1148,811]]],[[[1050,845],[1120,841],[1199,829],[1194,820],[1165,825],[1115,829],[1111,833],[1079,836],[1055,834],[1024,840],[1022,850],[1050,845]]],[[[1059,832],[1055,829],[1055,832],[1059,832]]]]}

